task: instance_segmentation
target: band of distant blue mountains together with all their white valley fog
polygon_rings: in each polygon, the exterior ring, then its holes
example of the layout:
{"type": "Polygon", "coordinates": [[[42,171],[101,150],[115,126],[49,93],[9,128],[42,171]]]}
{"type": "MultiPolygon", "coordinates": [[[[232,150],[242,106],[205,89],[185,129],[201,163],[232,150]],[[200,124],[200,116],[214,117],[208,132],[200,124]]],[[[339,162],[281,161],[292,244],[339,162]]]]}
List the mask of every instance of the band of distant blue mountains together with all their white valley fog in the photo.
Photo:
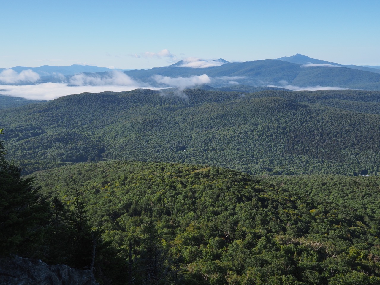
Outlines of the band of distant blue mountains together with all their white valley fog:
{"type": "MultiPolygon", "coordinates": [[[[168,53],[164,52],[163,54],[168,53]]],[[[243,84],[288,90],[379,90],[378,70],[367,68],[370,70],[367,71],[360,70],[360,68],[367,67],[346,67],[323,60],[310,59],[299,54],[280,60],[250,62],[228,62],[223,59],[203,60],[192,57],[167,67],[129,71],[86,65],[16,67],[1,70],[0,93],[33,100],[53,100],[82,92],[120,92],[139,88],[152,90],[178,88],[183,90],[204,84],[211,87],[243,84]],[[304,63],[305,59],[313,62],[304,63]],[[299,63],[294,63],[297,60],[299,63]],[[88,72],[88,70],[105,71],[88,72]],[[370,76],[368,77],[368,75],[370,76]],[[353,80],[348,81],[348,77],[353,80]]]]}

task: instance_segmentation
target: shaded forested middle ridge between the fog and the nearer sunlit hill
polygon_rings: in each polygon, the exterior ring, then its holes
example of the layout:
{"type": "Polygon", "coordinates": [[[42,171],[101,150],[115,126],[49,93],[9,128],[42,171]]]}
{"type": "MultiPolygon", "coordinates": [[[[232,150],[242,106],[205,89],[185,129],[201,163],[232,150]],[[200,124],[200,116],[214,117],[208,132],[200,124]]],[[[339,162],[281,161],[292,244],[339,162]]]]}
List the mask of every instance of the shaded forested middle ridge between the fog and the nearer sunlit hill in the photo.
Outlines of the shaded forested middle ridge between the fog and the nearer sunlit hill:
{"type": "Polygon", "coordinates": [[[377,175],[380,92],[82,93],[0,114],[28,173],[93,160],[208,164],[252,174],[377,175]]]}

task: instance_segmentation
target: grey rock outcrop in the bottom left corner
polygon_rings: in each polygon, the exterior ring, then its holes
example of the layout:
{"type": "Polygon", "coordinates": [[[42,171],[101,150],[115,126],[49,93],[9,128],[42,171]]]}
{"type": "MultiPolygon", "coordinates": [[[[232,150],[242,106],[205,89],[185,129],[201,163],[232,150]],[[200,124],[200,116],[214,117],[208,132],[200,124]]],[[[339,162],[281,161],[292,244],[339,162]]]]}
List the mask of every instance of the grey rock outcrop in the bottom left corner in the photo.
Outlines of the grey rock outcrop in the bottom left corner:
{"type": "Polygon", "coordinates": [[[98,285],[89,270],[48,265],[41,260],[12,256],[0,259],[0,285],[98,285]]]}

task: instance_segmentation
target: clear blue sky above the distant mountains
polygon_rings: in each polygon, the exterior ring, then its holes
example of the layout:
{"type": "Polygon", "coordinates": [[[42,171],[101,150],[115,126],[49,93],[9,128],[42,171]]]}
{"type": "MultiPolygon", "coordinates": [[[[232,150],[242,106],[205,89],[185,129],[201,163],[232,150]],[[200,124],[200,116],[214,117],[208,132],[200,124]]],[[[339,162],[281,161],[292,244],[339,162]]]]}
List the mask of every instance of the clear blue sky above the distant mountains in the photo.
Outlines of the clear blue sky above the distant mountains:
{"type": "Polygon", "coordinates": [[[0,67],[162,67],[296,53],[380,65],[380,1],[1,0],[0,67]]]}

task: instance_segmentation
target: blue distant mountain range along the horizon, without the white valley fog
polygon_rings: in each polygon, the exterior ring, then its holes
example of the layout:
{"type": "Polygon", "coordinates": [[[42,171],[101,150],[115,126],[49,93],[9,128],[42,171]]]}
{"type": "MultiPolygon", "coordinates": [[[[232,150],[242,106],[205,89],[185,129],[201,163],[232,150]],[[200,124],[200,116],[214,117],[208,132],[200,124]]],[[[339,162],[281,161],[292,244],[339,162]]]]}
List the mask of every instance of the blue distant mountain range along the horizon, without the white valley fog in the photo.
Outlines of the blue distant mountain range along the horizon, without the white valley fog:
{"type": "MultiPolygon", "coordinates": [[[[71,65],[70,67],[44,65],[37,68],[14,67],[12,69],[17,72],[30,69],[38,73],[40,78],[33,81],[34,84],[42,82],[66,82],[70,84],[71,79],[75,76],[74,74],[78,73],[89,78],[107,80],[115,76],[115,70],[88,65],[71,65]]],[[[0,69],[1,71],[2,69],[0,69]]],[[[155,88],[181,87],[178,85],[178,81],[182,79],[176,80],[177,85],[171,79],[191,78],[192,80],[197,79],[194,80],[196,82],[194,85],[207,84],[214,88],[248,85],[280,87],[291,90],[321,89],[320,87],[380,90],[380,69],[377,67],[342,65],[312,59],[301,54],[248,62],[228,62],[224,59],[187,59],[167,67],[149,70],[123,70],[121,72],[128,75],[139,86],[155,88]],[[193,76],[198,77],[193,78],[193,76]]],[[[81,84],[96,85],[98,82],[99,80],[93,79],[82,80],[81,84]]],[[[17,84],[30,84],[30,82],[19,81],[17,84]]]]}

